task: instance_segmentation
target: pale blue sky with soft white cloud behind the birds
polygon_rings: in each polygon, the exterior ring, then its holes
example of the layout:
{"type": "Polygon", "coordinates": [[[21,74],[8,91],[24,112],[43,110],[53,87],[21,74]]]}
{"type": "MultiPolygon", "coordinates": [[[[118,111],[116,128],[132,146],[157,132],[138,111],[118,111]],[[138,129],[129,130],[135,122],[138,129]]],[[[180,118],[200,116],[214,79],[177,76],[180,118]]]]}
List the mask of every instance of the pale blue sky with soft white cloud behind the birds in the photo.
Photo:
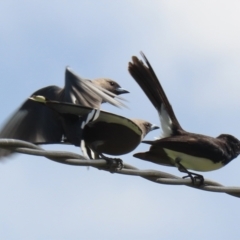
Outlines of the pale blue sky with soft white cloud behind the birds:
{"type": "MultiPolygon", "coordinates": [[[[126,117],[159,124],[127,65],[142,50],[188,131],[240,138],[237,1],[2,1],[0,124],[35,90],[63,86],[70,66],[109,77],[131,94],[126,117]]],[[[152,132],[147,139],[159,134],[152,132]]],[[[70,150],[76,147],[48,146],[70,150]]],[[[147,150],[141,144],[135,151],[147,150]]],[[[141,169],[177,169],[132,157],[141,169]]],[[[205,173],[240,186],[240,158],[205,173]]],[[[1,239],[239,239],[239,199],[15,154],[0,164],[1,239]]]]}

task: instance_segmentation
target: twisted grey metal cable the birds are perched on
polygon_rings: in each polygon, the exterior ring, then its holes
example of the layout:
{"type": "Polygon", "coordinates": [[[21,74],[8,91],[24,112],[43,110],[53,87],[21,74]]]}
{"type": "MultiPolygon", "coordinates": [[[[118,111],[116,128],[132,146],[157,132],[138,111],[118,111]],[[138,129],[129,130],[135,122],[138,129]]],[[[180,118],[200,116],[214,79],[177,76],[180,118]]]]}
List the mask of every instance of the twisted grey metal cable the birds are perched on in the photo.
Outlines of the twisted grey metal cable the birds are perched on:
{"type": "Polygon", "coordinates": [[[118,169],[117,161],[113,163],[111,167],[109,167],[109,163],[104,159],[90,160],[82,155],[67,151],[47,151],[38,145],[22,140],[0,139],[0,148],[4,148],[12,152],[42,156],[62,164],[94,167],[111,173],[142,177],[146,180],[159,184],[185,185],[187,187],[192,187],[199,190],[226,193],[240,198],[240,187],[225,187],[220,183],[209,179],[204,179],[204,185],[197,186],[192,184],[191,179],[182,179],[178,176],[158,170],[140,170],[125,162],[123,163],[123,168],[118,169]]]}

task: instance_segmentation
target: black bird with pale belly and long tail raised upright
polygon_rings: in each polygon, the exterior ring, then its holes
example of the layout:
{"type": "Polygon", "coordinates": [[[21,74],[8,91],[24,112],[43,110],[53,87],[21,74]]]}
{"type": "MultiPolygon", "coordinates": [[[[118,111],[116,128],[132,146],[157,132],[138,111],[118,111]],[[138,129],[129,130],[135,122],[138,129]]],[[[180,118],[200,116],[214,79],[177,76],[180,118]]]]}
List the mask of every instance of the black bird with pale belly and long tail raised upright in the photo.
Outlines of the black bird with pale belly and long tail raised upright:
{"type": "Polygon", "coordinates": [[[128,71],[144,91],[158,112],[162,135],[152,141],[147,152],[135,153],[134,157],[165,166],[177,167],[180,172],[190,177],[193,184],[204,182],[204,177],[197,172],[213,171],[227,165],[240,153],[240,141],[230,134],[218,137],[185,131],[177,120],[173,108],[146,56],[145,61],[132,57],[128,71]]]}

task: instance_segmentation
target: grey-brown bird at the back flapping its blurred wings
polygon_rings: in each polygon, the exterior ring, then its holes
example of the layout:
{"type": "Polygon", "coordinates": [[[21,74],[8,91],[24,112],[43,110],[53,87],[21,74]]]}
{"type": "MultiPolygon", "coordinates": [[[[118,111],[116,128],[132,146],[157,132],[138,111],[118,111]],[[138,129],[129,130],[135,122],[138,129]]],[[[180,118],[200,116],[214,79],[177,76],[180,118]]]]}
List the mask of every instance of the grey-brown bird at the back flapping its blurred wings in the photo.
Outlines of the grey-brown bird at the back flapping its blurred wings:
{"type": "MultiPolygon", "coordinates": [[[[65,70],[65,86],[48,86],[35,91],[31,96],[44,95],[50,100],[80,104],[100,108],[101,103],[109,102],[117,107],[125,106],[120,94],[127,90],[108,78],[88,80],[78,76],[70,67],[65,70]]],[[[62,137],[62,124],[59,116],[44,105],[27,99],[8,119],[0,130],[0,138],[13,138],[32,143],[57,142],[62,137]]],[[[10,151],[0,149],[0,158],[10,151]]]]}

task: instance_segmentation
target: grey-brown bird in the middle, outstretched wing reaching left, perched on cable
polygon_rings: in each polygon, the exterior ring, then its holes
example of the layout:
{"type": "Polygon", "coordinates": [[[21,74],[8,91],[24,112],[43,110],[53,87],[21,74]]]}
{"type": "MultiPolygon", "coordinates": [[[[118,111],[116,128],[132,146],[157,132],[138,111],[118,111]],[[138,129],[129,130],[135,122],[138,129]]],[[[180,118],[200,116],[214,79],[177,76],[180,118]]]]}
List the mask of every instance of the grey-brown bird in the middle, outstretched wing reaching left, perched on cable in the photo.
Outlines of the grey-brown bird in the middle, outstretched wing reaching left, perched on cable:
{"type": "Polygon", "coordinates": [[[84,155],[90,159],[112,160],[104,154],[127,154],[133,151],[150,131],[159,129],[158,126],[142,119],[128,119],[78,104],[50,101],[44,96],[33,96],[31,100],[44,104],[59,114],[64,136],[61,142],[54,143],[80,146],[84,155]],[[89,116],[93,120],[82,125],[89,116]]]}

